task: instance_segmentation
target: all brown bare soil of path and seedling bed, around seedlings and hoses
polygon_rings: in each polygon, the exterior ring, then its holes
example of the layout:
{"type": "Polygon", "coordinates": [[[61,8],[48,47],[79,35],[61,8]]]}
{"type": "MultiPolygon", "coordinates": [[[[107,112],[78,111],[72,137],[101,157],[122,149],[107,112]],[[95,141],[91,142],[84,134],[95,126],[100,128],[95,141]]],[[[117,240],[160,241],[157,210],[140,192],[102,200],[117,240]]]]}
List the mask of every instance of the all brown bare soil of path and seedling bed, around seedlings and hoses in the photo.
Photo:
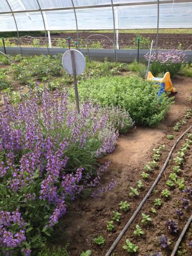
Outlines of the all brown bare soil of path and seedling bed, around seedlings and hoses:
{"type": "MultiPolygon", "coordinates": [[[[165,120],[156,128],[136,127],[134,131],[121,135],[115,151],[102,159],[102,162],[111,161],[110,169],[103,175],[103,183],[108,184],[113,178],[117,182],[115,188],[108,194],[97,198],[79,197],[71,205],[68,214],[63,217],[60,224],[57,226],[52,237],[52,242],[62,246],[65,246],[66,242],[68,242],[70,244],[68,248],[70,255],[79,256],[82,250],[92,249],[92,255],[101,256],[108,251],[140,201],[146,195],[150,186],[153,184],[159,173],[159,169],[163,166],[170,148],[175,141],[168,140],[166,135],[173,134],[175,139],[177,139],[180,134],[192,124],[192,120],[189,119],[186,125],[181,127],[179,132],[174,132],[173,130],[175,122],[181,120],[186,110],[192,107],[190,100],[191,93],[189,92],[192,89],[192,79],[179,77],[173,80],[173,83],[178,93],[175,94],[175,104],[172,106],[165,120]],[[140,175],[143,172],[143,166],[152,160],[152,149],[157,148],[160,144],[165,144],[166,147],[159,161],[159,169],[151,173],[147,181],[143,181],[144,189],[139,190],[140,195],[137,198],[129,197],[130,186],[136,187],[137,181],[142,180],[140,175]],[[121,211],[121,222],[119,224],[115,223],[114,232],[109,232],[106,230],[106,221],[112,220],[113,210],[120,211],[120,201],[128,201],[131,204],[131,209],[126,213],[121,211]],[[97,236],[103,236],[106,239],[104,246],[94,244],[93,239],[97,236]]],[[[183,143],[184,140],[181,141],[178,148],[180,148],[183,143]]],[[[181,176],[188,184],[191,182],[191,148],[182,166],[183,171],[181,176]]],[[[173,157],[177,151],[176,149],[173,157]]],[[[165,185],[165,181],[170,172],[172,172],[172,161],[165,170],[165,176],[162,176],[161,181],[157,185],[159,193],[153,193],[141,211],[145,214],[150,214],[153,219],[151,225],[142,226],[143,231],[145,231],[145,236],[141,238],[135,238],[135,236],[133,236],[133,230],[136,224],[140,225],[141,214],[139,214],[116,247],[115,255],[127,255],[127,252],[122,249],[126,238],[129,238],[131,242],[139,246],[136,255],[145,255],[152,251],[163,251],[163,256],[170,255],[170,249],[173,249],[179,234],[174,236],[169,234],[165,228],[165,221],[168,219],[176,220],[180,233],[191,212],[191,207],[189,207],[189,209],[185,211],[183,219],[177,219],[174,215],[175,208],[180,205],[180,198],[183,197],[183,193],[178,188],[171,190],[171,197],[168,201],[162,199],[163,206],[157,210],[156,215],[150,212],[154,199],[160,198],[162,189],[168,188],[165,185]],[[169,246],[170,249],[168,250],[163,250],[159,245],[158,239],[162,233],[172,241],[172,245],[169,246]]],[[[188,241],[189,238],[187,238],[187,242],[188,241]]],[[[192,254],[188,247],[187,253],[187,256],[192,254]]]]}

